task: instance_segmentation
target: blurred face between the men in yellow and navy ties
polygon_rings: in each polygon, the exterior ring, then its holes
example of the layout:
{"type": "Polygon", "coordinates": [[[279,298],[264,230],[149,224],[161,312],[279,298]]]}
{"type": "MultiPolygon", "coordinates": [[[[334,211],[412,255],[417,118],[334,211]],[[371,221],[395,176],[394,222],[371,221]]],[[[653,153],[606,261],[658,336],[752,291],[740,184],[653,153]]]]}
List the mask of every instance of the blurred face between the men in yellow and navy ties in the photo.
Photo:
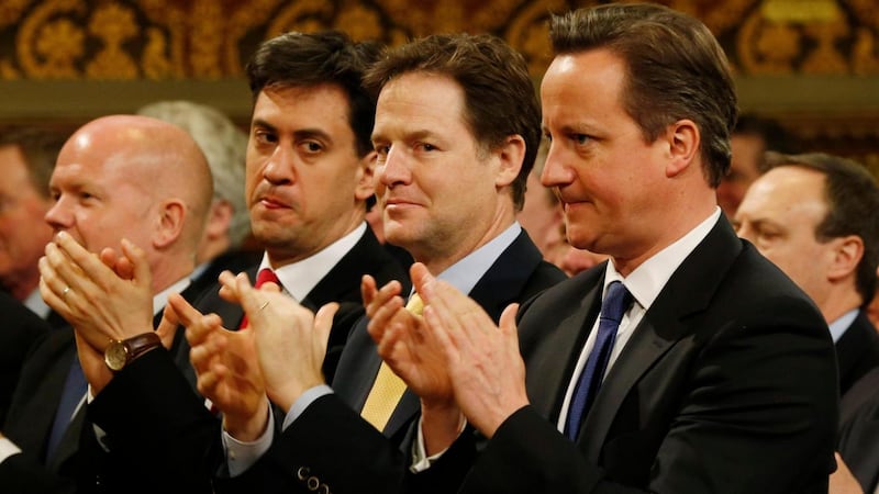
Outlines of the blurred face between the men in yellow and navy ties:
{"type": "Polygon", "coordinates": [[[585,271],[607,259],[607,256],[577,249],[568,244],[565,235],[565,214],[552,189],[541,183],[543,164],[546,160],[546,141],[541,142],[534,169],[528,173],[525,204],[516,220],[528,233],[544,259],[558,266],[569,277],[585,271]]]}

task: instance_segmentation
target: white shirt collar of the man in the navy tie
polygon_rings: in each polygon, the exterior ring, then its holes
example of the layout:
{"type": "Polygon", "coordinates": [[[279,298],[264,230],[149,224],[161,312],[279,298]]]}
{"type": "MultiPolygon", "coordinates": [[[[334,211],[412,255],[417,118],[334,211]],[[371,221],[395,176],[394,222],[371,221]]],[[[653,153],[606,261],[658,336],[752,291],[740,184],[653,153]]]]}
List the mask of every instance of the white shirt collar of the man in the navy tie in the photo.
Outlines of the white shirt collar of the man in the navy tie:
{"type": "Polygon", "coordinates": [[[607,272],[604,274],[604,289],[601,292],[602,297],[608,291],[608,284],[610,284],[611,281],[620,280],[642,307],[645,310],[649,308],[656,297],[659,296],[659,292],[663,291],[663,288],[671,278],[671,274],[683,263],[687,256],[696,250],[696,247],[704,240],[711,232],[711,228],[713,228],[720,220],[720,216],[721,209],[715,207],[714,212],[702,223],[697,225],[696,228],[644,261],[625,279],[616,271],[616,268],[613,266],[613,260],[608,262],[607,272]]]}

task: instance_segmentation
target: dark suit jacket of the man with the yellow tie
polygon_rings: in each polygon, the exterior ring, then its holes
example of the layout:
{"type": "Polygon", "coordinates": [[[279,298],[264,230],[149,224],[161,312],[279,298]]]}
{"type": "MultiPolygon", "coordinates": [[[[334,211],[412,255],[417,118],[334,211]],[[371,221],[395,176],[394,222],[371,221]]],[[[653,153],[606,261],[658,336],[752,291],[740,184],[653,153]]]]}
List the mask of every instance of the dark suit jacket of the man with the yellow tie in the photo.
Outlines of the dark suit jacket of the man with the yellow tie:
{"type": "MultiPolygon", "coordinates": [[[[522,232],[469,295],[498,321],[510,303],[524,302],[565,278],[558,268],[543,261],[522,232]]],[[[360,418],[381,363],[367,324],[363,318],[352,332],[333,381],[335,394],[312,403],[254,467],[243,475],[219,481],[218,492],[307,493],[308,482],[315,481],[336,494],[401,490],[409,464],[401,444],[421,406],[419,397],[407,390],[382,433],[360,418]]]]}

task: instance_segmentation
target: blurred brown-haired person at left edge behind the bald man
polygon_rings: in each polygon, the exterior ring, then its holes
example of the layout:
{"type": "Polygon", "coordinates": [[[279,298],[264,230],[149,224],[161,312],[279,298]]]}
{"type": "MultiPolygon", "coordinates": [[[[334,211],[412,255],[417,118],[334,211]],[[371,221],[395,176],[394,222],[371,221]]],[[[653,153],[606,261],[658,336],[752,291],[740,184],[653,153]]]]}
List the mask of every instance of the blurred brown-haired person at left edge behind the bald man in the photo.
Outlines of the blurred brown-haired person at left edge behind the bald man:
{"type": "Polygon", "coordinates": [[[66,138],[60,132],[29,127],[0,135],[0,285],[53,326],[65,323],[40,296],[36,263],[52,239],[43,217],[54,203],[48,180],[66,138]]]}

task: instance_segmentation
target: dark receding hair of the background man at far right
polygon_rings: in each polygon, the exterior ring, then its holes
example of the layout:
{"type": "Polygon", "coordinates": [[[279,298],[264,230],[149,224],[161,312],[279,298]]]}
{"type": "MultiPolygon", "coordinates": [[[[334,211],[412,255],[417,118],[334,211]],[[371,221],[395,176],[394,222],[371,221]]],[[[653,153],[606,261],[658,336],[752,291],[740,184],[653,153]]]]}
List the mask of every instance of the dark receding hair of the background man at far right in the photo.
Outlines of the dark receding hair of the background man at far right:
{"type": "Polygon", "coordinates": [[[864,240],[856,284],[863,304],[868,304],[876,294],[876,268],[879,266],[879,186],[876,179],[857,161],[824,153],[767,151],[765,158],[767,170],[793,166],[824,175],[827,215],[815,227],[815,238],[828,242],[857,235],[864,240]]]}

